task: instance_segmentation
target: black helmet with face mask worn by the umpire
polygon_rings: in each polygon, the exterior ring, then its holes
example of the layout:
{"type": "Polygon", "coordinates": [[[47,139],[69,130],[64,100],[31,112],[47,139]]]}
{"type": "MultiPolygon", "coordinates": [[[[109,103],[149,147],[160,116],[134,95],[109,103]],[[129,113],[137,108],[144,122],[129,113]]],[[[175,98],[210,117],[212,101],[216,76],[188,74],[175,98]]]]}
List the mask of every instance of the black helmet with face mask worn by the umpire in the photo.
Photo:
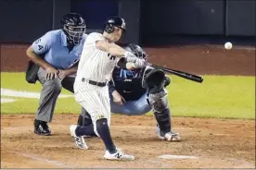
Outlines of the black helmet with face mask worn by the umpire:
{"type": "Polygon", "coordinates": [[[68,13],[63,16],[61,26],[71,43],[77,45],[81,42],[86,25],[80,14],[68,13]]]}

